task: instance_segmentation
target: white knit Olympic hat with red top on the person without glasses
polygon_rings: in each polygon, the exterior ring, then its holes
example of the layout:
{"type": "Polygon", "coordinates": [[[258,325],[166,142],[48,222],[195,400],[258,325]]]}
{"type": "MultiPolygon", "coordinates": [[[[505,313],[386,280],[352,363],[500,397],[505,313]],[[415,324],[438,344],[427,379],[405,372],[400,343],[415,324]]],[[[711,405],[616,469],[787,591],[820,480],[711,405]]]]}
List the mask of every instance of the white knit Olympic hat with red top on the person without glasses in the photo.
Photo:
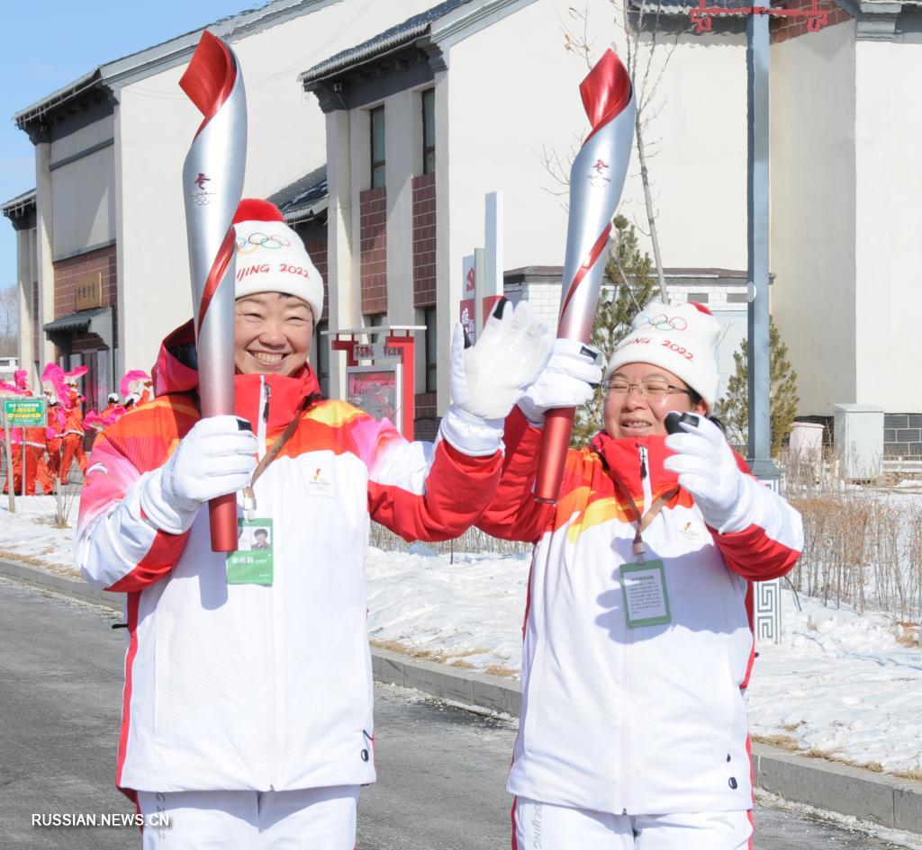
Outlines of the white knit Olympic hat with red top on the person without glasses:
{"type": "Polygon", "coordinates": [[[324,282],[304,250],[301,237],[285,224],[275,204],[244,198],[233,219],[237,232],[237,284],[234,297],[284,292],[303,298],[313,320],[324,312],[324,282]]]}

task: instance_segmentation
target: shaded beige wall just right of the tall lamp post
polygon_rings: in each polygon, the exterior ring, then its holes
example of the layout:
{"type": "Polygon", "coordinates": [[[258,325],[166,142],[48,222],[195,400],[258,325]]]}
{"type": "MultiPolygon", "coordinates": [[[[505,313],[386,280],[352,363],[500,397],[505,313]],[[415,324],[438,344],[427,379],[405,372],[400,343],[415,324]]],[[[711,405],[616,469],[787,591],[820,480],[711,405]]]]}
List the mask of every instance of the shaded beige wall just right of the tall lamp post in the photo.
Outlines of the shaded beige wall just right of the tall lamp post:
{"type": "Polygon", "coordinates": [[[855,43],[849,21],[772,48],[772,313],[800,414],[872,401],[856,394],[855,43]]]}

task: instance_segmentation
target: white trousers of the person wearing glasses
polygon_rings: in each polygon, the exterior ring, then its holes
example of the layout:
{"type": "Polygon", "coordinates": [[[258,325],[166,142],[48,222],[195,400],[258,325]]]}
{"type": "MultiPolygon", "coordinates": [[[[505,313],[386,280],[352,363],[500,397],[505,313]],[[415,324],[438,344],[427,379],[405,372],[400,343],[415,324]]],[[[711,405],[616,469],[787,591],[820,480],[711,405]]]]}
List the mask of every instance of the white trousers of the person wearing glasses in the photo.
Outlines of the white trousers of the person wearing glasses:
{"type": "Polygon", "coordinates": [[[514,850],[749,850],[750,811],[613,815],[515,798],[514,850]]]}

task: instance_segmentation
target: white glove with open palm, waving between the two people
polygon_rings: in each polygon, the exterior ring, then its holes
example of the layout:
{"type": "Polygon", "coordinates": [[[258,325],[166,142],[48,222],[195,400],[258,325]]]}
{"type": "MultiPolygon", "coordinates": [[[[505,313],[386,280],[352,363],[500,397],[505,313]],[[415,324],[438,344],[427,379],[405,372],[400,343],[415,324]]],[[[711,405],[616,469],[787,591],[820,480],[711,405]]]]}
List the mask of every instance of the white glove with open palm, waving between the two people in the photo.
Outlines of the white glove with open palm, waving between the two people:
{"type": "Polygon", "coordinates": [[[548,329],[527,301],[513,309],[503,298],[469,348],[459,322],[448,376],[452,401],[479,419],[505,419],[547,364],[550,344],[548,329]]]}

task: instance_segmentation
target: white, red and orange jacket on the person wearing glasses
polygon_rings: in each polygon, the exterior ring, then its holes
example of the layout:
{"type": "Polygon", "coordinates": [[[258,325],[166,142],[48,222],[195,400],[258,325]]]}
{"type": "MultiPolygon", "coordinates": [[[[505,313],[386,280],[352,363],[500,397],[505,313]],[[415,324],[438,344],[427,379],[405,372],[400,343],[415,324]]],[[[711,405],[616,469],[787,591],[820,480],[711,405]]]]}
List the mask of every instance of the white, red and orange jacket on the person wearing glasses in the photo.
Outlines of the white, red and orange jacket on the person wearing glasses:
{"type": "Polygon", "coordinates": [[[748,478],[748,527],[718,534],[679,490],[644,531],[671,622],[629,628],[620,568],[635,560],[636,523],[615,481],[642,514],[678,487],[665,437],[601,434],[571,450],[549,506],[531,495],[540,436],[517,410],[507,420],[500,487],[478,522],[536,543],[510,793],[619,815],[751,809],[751,582],[797,561],[798,512],[748,478]]]}

